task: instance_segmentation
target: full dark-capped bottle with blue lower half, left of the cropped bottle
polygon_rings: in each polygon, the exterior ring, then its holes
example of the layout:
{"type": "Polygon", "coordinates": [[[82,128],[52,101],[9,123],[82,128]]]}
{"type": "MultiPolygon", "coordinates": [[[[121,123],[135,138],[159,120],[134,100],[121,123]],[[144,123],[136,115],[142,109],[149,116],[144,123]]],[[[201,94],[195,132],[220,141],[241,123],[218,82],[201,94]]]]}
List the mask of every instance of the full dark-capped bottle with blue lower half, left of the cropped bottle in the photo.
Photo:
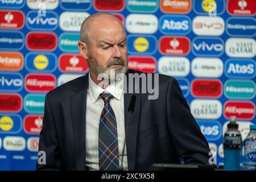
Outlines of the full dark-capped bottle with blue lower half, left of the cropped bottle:
{"type": "Polygon", "coordinates": [[[224,170],[240,171],[240,155],[241,155],[241,133],[238,131],[236,117],[230,117],[228,123],[228,131],[224,134],[224,170]]]}

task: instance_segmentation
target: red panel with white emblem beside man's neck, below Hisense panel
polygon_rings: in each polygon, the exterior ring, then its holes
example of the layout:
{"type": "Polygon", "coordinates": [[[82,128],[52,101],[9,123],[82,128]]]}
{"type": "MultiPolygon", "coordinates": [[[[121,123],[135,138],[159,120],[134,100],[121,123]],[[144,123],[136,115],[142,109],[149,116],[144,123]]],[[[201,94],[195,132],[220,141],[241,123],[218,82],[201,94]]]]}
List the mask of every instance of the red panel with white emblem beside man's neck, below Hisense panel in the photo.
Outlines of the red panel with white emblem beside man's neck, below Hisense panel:
{"type": "Polygon", "coordinates": [[[63,54],[59,57],[59,69],[67,73],[85,73],[88,65],[81,55],[63,54]]]}

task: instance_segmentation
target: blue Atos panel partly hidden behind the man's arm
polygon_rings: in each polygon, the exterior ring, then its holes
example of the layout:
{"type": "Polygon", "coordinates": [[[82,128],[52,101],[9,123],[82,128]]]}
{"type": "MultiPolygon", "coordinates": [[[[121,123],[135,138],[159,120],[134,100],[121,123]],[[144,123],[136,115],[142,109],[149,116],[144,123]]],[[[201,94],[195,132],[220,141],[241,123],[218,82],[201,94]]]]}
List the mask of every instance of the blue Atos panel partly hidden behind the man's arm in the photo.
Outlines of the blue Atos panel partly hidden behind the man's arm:
{"type": "Polygon", "coordinates": [[[209,140],[217,140],[221,137],[222,126],[218,121],[197,121],[204,137],[209,140]]]}

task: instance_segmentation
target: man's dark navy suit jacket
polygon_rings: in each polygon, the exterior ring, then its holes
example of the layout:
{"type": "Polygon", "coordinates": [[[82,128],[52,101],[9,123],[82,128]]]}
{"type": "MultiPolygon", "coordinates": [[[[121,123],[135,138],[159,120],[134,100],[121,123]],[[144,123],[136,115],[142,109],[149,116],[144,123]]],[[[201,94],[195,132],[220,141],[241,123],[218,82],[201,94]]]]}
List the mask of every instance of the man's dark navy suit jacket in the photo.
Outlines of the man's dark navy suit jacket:
{"type": "MultiPolygon", "coordinates": [[[[141,72],[129,70],[127,73],[141,72]]],[[[126,74],[127,74],[126,73],[126,74]]],[[[129,79],[128,79],[129,80],[129,79]]],[[[36,169],[85,170],[85,121],[88,74],[47,93],[39,151],[46,164],[36,169]]],[[[153,163],[209,164],[209,146],[193,118],[175,78],[159,75],[159,97],[125,93],[126,147],[129,170],[148,170],[153,163]],[[135,95],[127,126],[128,106],[135,95]]]]}

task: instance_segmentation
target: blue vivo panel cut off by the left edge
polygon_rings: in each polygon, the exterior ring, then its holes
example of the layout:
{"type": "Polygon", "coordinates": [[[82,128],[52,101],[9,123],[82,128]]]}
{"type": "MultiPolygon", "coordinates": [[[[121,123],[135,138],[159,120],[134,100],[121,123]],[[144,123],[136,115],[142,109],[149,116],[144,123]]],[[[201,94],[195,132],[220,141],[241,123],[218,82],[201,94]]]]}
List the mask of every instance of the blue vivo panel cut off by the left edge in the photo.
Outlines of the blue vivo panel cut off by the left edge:
{"type": "Polygon", "coordinates": [[[19,73],[1,73],[0,91],[19,92],[23,88],[23,77],[19,73]]]}

